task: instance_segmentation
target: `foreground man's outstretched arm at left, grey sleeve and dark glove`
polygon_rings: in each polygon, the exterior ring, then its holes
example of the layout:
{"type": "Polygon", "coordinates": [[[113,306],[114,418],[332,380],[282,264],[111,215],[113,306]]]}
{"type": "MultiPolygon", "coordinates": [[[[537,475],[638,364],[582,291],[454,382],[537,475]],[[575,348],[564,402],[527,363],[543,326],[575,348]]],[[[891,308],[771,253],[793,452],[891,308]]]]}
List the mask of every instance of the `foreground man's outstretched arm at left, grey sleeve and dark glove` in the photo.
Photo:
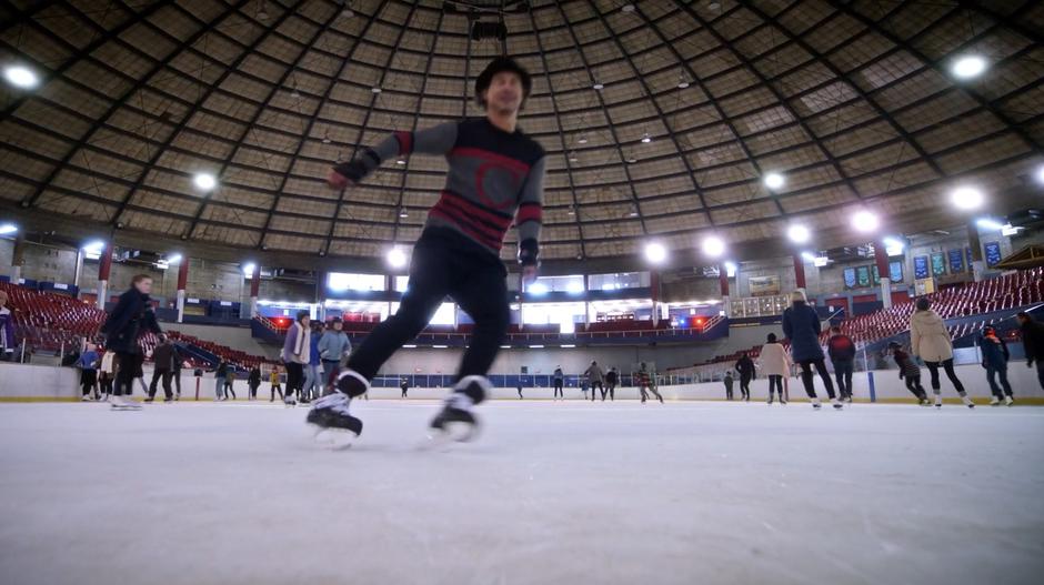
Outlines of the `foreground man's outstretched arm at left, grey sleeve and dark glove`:
{"type": "Polygon", "coordinates": [[[414,152],[445,154],[456,142],[456,129],[458,122],[446,122],[416,132],[393,132],[377,147],[362,149],[350,162],[335,165],[328,182],[334,189],[343,189],[362,182],[388,159],[414,152]]]}

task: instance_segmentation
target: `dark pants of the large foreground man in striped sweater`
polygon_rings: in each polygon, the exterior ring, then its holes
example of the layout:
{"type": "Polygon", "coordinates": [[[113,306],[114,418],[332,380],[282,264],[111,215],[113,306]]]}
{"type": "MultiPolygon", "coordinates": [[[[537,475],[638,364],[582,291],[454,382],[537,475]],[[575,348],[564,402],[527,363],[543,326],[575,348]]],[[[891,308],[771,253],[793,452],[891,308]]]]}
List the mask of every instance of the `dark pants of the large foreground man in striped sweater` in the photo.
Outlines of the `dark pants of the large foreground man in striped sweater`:
{"type": "Polygon", "coordinates": [[[454,383],[469,375],[484,376],[511,320],[506,275],[500,259],[479,244],[452,230],[429,228],[413,249],[410,281],[399,311],[367,336],[348,366],[373,380],[381,365],[428,325],[449,295],[475,322],[454,383]]]}

